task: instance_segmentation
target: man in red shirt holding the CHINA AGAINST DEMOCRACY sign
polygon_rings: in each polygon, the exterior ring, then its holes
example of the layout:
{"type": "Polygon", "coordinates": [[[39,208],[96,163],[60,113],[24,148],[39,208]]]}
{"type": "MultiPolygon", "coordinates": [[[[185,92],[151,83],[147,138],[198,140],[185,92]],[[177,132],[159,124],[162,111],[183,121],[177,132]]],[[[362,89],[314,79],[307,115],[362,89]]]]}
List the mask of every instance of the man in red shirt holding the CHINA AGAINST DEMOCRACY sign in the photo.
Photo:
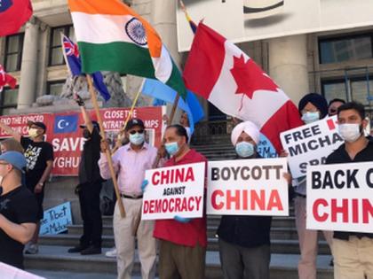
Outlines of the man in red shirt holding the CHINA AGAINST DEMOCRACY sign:
{"type": "MultiPolygon", "coordinates": [[[[202,154],[189,148],[187,130],[181,125],[169,126],[164,140],[164,147],[172,156],[164,167],[207,162],[202,154]]],[[[160,240],[160,278],[204,278],[207,245],[205,214],[202,218],[175,216],[174,220],[157,220],[154,236],[160,240]]]]}

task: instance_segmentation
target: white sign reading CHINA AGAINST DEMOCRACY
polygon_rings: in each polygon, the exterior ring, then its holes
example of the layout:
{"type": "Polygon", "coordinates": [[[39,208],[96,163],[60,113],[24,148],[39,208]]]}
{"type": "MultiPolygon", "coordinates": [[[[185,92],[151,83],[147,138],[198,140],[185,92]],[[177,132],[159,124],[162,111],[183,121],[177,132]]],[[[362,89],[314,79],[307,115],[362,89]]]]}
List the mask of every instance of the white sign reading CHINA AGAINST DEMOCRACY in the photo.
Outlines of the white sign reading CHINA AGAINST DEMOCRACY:
{"type": "Polygon", "coordinates": [[[141,219],[202,217],[205,167],[201,162],[147,170],[141,219]]]}

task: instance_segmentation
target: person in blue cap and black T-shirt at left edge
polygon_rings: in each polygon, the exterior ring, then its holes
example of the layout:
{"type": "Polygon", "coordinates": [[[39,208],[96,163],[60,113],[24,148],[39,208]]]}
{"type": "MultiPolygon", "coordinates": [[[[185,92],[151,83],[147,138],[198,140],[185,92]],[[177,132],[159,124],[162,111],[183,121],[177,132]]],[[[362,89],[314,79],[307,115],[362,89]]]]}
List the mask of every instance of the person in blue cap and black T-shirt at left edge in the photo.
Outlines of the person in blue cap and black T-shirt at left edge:
{"type": "Polygon", "coordinates": [[[36,231],[38,210],[34,195],[21,184],[25,167],[18,151],[0,155],[0,261],[22,269],[24,244],[36,231]]]}

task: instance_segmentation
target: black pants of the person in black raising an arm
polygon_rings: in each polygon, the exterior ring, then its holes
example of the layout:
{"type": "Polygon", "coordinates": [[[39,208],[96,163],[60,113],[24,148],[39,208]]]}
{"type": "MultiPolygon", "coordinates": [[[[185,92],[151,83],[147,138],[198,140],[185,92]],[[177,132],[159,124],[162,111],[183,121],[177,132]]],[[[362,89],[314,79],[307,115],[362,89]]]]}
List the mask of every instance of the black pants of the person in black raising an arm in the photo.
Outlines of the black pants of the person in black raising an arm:
{"type": "Polygon", "coordinates": [[[80,237],[82,247],[93,245],[101,247],[102,218],[99,210],[99,192],[102,183],[83,183],[79,190],[80,211],[83,219],[83,236],[80,237]]]}

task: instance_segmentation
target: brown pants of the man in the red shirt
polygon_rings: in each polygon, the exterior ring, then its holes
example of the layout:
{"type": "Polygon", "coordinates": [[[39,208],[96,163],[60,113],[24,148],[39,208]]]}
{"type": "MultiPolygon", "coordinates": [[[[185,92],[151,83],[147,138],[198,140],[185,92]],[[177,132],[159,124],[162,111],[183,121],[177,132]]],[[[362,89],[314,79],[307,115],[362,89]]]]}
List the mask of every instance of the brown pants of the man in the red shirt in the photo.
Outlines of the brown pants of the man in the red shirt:
{"type": "Polygon", "coordinates": [[[204,279],[206,248],[173,244],[160,240],[160,279],[204,279]]]}

